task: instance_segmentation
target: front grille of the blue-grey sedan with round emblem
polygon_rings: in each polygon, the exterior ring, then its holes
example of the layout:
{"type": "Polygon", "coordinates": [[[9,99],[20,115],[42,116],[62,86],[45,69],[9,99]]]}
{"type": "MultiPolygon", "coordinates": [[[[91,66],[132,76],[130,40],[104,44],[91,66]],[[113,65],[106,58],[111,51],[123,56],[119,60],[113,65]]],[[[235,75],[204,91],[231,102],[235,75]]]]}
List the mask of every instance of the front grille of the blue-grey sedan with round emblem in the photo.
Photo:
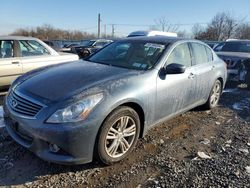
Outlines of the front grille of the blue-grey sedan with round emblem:
{"type": "Polygon", "coordinates": [[[14,112],[28,117],[35,117],[38,112],[43,108],[42,105],[30,101],[24,96],[20,96],[14,91],[11,91],[11,93],[9,94],[8,103],[10,108],[14,112]]]}

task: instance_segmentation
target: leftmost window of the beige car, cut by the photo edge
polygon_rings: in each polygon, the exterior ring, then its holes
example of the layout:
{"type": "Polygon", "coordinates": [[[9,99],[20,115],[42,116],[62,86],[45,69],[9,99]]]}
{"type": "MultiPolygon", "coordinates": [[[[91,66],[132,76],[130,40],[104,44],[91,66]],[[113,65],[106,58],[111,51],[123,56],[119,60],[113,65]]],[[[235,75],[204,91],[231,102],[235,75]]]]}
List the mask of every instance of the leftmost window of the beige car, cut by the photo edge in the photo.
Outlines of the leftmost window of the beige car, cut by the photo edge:
{"type": "Polygon", "coordinates": [[[14,57],[14,42],[10,40],[0,41],[0,58],[14,57]]]}

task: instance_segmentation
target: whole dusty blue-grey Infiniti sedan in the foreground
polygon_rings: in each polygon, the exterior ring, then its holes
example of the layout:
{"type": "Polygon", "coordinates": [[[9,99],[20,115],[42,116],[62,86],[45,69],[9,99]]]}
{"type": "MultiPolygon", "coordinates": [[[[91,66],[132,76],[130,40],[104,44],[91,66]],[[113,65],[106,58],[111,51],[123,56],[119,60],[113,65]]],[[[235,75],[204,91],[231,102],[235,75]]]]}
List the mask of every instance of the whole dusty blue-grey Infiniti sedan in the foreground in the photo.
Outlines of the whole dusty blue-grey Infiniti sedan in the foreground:
{"type": "Polygon", "coordinates": [[[4,102],[6,128],[44,160],[112,164],[152,126],[215,107],[226,75],[225,63],[202,42],[126,38],[87,60],[19,77],[4,102]]]}

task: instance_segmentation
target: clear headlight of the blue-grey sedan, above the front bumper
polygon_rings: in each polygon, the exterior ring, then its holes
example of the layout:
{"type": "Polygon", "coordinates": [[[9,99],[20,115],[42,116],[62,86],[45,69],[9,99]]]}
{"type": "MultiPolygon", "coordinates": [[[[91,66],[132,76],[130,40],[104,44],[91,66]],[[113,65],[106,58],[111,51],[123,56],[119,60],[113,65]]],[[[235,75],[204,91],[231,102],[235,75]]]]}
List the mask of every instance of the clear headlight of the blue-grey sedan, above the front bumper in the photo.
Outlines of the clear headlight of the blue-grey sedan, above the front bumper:
{"type": "Polygon", "coordinates": [[[64,109],[57,110],[52,116],[50,116],[47,122],[66,123],[84,120],[91,110],[102,100],[102,98],[102,93],[86,97],[64,109]]]}

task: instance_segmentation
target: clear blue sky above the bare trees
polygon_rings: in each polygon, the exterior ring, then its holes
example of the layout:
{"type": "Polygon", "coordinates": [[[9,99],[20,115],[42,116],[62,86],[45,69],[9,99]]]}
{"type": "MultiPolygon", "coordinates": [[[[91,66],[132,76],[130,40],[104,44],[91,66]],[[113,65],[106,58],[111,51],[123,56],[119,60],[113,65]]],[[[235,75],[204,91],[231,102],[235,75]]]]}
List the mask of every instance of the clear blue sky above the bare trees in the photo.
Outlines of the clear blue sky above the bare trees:
{"type": "Polygon", "coordinates": [[[148,29],[160,17],[190,30],[192,24],[205,24],[224,11],[250,23],[250,0],[7,0],[0,7],[1,35],[43,24],[96,33],[98,13],[102,32],[105,24],[108,34],[111,24],[118,24],[117,35],[148,29]]]}

